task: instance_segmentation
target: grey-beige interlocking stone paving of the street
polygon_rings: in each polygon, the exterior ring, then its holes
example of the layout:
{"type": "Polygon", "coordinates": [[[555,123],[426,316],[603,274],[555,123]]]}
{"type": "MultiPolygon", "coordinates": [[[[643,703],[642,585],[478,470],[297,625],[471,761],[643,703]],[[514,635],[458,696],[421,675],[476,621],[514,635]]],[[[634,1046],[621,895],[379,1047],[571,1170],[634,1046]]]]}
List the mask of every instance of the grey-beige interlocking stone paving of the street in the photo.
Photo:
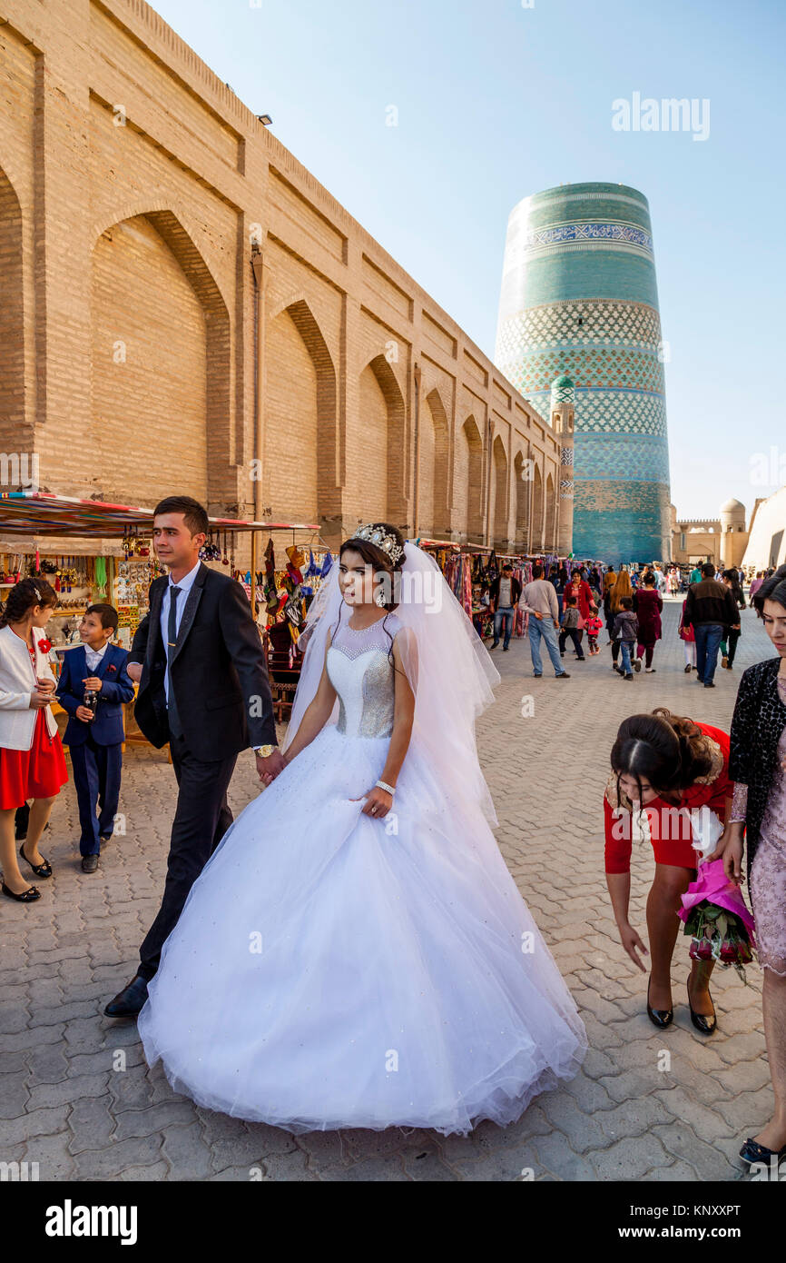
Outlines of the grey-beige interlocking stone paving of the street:
{"type": "MultiPolygon", "coordinates": [[[[674,965],[675,1023],[645,1013],[646,980],[619,946],[603,879],[602,791],[619,721],[666,705],[719,726],[730,721],[741,669],[771,653],[743,614],[738,669],[703,690],[683,672],[677,605],[669,602],[656,674],[625,683],[608,650],[573,678],[531,678],[529,647],[497,650],[502,683],[479,725],[482,762],[500,816],[505,859],[582,1009],[590,1051],[568,1086],[539,1098],[507,1129],[469,1137],[430,1132],[314,1133],[212,1114],[177,1096],[160,1065],[148,1071],[135,1024],[101,1014],[135,971],[136,950],[163,887],[174,777],[165,755],[132,748],[121,810],[127,834],[96,875],[76,858],[74,797],[61,796],[44,854],[56,870],[39,903],[0,907],[0,1158],[39,1163],[42,1180],[738,1180],[741,1140],[770,1116],[772,1094],[756,967],[713,985],[719,1029],[690,1026],[685,940],[674,965]],[[521,714],[524,697],[534,715],[521,714]],[[671,1055],[670,1068],[661,1050],[671,1055]],[[125,1068],[122,1065],[125,1063],[125,1068]]],[[[603,635],[602,640],[606,639],[603,635]]],[[[243,757],[231,788],[237,811],[256,793],[243,757]]],[[[652,856],[633,865],[632,921],[646,936],[652,856]]]]}

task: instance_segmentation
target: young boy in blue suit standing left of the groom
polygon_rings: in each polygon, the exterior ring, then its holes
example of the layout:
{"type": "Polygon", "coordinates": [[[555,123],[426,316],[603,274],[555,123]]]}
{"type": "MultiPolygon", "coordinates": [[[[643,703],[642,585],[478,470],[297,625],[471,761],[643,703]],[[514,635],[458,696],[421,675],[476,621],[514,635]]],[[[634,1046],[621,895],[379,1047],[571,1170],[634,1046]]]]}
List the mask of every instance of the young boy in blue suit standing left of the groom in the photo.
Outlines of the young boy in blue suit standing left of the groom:
{"type": "Polygon", "coordinates": [[[85,873],[96,871],[101,842],[112,836],[122,770],[120,703],[134,697],[134,685],[126,672],[127,653],[110,644],[116,630],[117,610],[112,605],[88,606],[79,624],[82,645],[66,653],[57,686],[58,701],[71,716],[63,744],[71,750],[85,873]],[[98,693],[95,719],[85,706],[88,688],[98,693]]]}

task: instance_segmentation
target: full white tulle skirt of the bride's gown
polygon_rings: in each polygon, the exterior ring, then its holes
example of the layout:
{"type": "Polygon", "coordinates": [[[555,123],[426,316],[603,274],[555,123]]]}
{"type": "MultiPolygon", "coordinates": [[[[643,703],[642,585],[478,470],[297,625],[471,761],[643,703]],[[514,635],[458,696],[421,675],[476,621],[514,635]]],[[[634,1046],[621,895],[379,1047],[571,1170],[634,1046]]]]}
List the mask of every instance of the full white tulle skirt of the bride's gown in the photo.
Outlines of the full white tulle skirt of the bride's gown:
{"type": "Polygon", "coordinates": [[[478,810],[410,746],[320,735],[194,883],[139,1031],[198,1104],[289,1132],[517,1119],[572,1077],[584,1027],[478,810]]]}

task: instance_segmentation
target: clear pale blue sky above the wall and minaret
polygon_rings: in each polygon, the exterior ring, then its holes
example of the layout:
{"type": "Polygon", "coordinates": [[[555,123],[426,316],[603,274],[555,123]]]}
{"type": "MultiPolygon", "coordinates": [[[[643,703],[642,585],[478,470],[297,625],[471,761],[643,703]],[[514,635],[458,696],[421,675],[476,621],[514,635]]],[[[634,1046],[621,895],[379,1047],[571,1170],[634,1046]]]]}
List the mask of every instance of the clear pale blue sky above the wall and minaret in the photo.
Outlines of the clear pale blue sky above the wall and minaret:
{"type": "Polygon", "coordinates": [[[491,357],[512,206],[559,183],[640,188],[677,512],[714,517],[730,495],[749,512],[786,481],[783,0],[154,8],[491,357]],[[612,101],[636,91],[709,99],[709,139],[613,130],[612,101]],[[773,445],[783,477],[776,462],[756,485],[773,445]]]}

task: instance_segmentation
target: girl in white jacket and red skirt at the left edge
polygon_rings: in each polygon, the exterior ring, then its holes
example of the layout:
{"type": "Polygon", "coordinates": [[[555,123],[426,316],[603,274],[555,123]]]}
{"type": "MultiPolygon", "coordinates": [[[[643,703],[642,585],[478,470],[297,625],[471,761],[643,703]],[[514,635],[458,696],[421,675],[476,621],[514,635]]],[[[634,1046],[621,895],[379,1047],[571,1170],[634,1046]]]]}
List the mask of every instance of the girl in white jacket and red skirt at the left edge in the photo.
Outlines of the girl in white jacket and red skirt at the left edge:
{"type": "Polygon", "coordinates": [[[9,592],[0,618],[0,865],[3,894],[20,903],[40,898],[21,875],[14,816],[33,798],[28,836],[19,856],[35,877],[52,877],[38,850],[52,803],[66,784],[66,758],[52,714],[56,678],[44,628],[57,594],[40,578],[23,578],[9,592]]]}

